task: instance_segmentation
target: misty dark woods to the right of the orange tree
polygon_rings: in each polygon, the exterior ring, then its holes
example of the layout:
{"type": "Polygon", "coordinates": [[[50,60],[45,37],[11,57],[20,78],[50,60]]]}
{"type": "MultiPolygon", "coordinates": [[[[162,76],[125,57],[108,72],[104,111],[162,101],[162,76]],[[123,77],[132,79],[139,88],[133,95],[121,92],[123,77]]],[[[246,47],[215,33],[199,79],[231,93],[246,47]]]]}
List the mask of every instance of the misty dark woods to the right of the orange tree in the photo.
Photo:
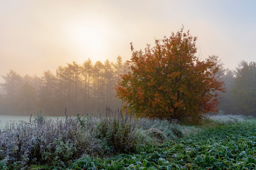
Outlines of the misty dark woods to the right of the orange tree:
{"type": "Polygon", "coordinates": [[[223,69],[226,92],[218,109],[225,114],[256,117],[256,63],[241,61],[235,70],[223,69]]]}

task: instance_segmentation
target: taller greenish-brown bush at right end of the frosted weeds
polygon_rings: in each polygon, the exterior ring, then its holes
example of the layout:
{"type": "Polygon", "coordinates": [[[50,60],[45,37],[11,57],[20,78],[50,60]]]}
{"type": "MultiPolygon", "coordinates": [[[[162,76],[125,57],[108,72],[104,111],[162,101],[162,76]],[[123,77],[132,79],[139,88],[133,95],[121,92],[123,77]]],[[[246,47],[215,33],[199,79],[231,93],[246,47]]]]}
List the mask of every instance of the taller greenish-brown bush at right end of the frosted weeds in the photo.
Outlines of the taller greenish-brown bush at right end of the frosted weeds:
{"type": "Polygon", "coordinates": [[[111,153],[134,151],[138,137],[132,116],[127,111],[123,114],[122,109],[113,112],[110,107],[106,107],[104,114],[99,112],[95,136],[107,142],[111,153]]]}

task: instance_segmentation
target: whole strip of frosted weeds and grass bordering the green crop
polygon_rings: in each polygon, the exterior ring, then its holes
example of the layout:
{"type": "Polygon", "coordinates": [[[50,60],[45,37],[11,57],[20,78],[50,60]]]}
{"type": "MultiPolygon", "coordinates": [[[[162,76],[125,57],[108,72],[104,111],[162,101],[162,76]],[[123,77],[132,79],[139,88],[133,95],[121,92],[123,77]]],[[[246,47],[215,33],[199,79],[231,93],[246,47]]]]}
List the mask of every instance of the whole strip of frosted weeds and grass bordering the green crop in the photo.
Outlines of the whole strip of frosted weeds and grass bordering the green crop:
{"type": "MultiPolygon", "coordinates": [[[[108,160],[119,154],[139,154],[152,146],[219,125],[211,117],[205,119],[204,126],[181,126],[160,119],[132,119],[129,112],[112,111],[109,107],[104,113],[77,115],[76,119],[68,117],[66,109],[64,112],[65,120],[46,119],[42,124],[35,119],[1,130],[0,169],[25,169],[31,165],[46,169],[68,168],[85,157],[86,161],[108,160]]],[[[226,116],[220,119],[223,117],[226,116]]]]}

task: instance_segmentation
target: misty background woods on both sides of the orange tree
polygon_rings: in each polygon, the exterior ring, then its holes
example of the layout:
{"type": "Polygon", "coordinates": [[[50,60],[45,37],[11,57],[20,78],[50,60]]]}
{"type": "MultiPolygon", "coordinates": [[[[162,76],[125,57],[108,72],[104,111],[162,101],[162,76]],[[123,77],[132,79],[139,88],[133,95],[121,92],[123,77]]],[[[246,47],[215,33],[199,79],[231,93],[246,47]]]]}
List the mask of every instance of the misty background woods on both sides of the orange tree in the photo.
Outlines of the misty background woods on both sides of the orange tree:
{"type": "MultiPolygon", "coordinates": [[[[216,56],[209,56],[216,59],[216,56]]],[[[217,109],[225,114],[244,114],[256,117],[256,63],[241,61],[236,70],[223,67],[215,75],[225,83],[226,92],[219,93],[221,103],[217,109]]],[[[120,56],[116,63],[109,60],[92,63],[88,58],[82,64],[67,63],[55,73],[44,71],[42,77],[20,76],[14,70],[2,75],[0,84],[1,115],[33,115],[42,109],[48,116],[62,116],[64,107],[70,115],[103,111],[107,105],[113,109],[122,106],[114,87],[119,74],[128,71],[127,62],[120,56]]]]}

